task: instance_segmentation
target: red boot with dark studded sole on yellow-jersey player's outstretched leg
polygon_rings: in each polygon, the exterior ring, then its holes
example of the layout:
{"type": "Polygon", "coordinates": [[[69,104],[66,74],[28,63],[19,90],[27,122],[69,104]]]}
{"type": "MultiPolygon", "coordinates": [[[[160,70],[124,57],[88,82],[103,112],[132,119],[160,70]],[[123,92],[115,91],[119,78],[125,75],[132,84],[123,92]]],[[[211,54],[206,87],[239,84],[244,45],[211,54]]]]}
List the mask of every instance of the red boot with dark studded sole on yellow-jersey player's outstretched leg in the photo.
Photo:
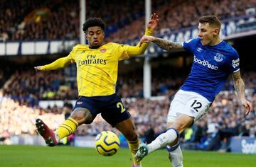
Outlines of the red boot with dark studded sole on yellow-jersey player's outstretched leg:
{"type": "Polygon", "coordinates": [[[57,145],[55,133],[41,119],[36,119],[36,128],[48,146],[57,145]]]}

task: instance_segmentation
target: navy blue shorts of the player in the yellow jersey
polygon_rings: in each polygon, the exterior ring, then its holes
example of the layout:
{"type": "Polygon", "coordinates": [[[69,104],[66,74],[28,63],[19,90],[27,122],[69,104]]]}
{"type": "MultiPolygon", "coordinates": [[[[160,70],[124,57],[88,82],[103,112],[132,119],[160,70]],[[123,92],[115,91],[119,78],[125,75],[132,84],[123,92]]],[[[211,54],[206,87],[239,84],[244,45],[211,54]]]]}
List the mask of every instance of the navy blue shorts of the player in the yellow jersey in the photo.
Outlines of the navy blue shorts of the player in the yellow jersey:
{"type": "Polygon", "coordinates": [[[80,96],[75,102],[75,108],[87,108],[90,110],[92,120],[95,119],[97,114],[101,113],[103,119],[112,127],[131,117],[130,113],[124,108],[121,98],[116,93],[110,96],[80,96]]]}

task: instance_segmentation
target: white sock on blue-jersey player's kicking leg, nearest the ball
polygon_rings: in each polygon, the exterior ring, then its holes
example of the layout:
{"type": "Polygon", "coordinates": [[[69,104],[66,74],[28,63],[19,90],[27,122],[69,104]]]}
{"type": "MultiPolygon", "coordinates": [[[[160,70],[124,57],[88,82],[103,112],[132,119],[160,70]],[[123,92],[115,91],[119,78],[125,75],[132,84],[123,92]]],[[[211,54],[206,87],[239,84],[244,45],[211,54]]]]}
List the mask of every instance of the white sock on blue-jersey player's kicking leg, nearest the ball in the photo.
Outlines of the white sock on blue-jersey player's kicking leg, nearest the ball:
{"type": "Polygon", "coordinates": [[[147,145],[149,151],[148,153],[156,151],[156,149],[160,149],[161,147],[167,146],[167,144],[174,142],[177,137],[177,132],[174,129],[167,130],[165,133],[160,134],[159,137],[156,137],[156,139],[151,142],[151,144],[147,145]]]}

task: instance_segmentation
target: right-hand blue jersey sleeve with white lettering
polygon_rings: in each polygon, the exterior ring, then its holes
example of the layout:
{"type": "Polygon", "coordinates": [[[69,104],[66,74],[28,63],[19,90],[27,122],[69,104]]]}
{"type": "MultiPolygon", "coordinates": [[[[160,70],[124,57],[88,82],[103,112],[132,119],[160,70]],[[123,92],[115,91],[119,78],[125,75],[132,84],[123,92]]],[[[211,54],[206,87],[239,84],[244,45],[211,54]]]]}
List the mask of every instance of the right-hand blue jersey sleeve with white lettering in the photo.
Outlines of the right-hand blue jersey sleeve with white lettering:
{"type": "Polygon", "coordinates": [[[230,57],[228,59],[228,70],[230,73],[239,71],[240,69],[240,59],[238,52],[236,50],[233,50],[232,54],[230,54],[230,57]]]}

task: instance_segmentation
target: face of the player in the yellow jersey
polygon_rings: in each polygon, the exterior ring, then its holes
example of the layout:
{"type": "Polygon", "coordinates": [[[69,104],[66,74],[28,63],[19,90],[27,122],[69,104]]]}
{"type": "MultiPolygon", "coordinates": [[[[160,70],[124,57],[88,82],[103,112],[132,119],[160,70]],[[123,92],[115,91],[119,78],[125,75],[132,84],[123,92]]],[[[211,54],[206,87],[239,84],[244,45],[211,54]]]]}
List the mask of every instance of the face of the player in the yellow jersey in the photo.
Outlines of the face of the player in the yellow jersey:
{"type": "Polygon", "coordinates": [[[104,37],[105,33],[99,26],[90,27],[86,32],[86,39],[90,47],[100,47],[104,37]]]}

